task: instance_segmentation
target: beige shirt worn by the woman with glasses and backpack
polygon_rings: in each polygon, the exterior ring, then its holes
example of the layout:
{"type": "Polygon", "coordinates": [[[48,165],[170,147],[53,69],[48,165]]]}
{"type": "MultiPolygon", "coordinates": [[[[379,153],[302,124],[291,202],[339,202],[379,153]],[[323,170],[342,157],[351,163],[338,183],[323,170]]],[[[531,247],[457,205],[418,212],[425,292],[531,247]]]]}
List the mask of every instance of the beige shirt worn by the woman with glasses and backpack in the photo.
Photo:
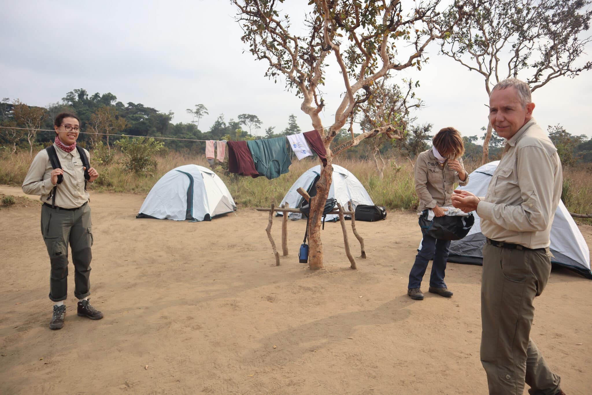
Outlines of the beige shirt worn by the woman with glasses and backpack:
{"type": "MultiPolygon", "coordinates": [[[[60,160],[64,171],[63,180],[57,184],[56,205],[62,208],[81,207],[88,201],[88,192],[84,190],[84,170],[78,150],[74,149],[68,153],[60,149],[54,143],[57,158],[60,160]]],[[[91,160],[87,150],[84,150],[88,160],[91,160]]],[[[22,191],[29,195],[41,195],[41,201],[52,204],[50,194],[54,185],[52,184],[52,163],[49,160],[47,151],[40,150],[22,182],[22,191]]]]}

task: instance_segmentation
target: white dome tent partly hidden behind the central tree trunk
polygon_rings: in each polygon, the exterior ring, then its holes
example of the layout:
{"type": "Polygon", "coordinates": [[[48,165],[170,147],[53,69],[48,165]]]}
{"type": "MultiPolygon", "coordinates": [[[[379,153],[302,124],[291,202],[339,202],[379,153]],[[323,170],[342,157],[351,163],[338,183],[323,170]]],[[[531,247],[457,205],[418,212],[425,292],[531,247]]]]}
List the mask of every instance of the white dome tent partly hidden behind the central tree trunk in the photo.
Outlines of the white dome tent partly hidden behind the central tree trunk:
{"type": "MultiPolygon", "coordinates": [[[[299,187],[302,187],[311,196],[316,195],[317,190],[315,188],[317,180],[320,178],[321,165],[314,166],[313,168],[305,171],[290,187],[288,193],[282,199],[282,203],[288,203],[289,207],[296,208],[300,207],[303,202],[303,197],[296,191],[299,187]]],[[[350,173],[348,169],[343,168],[339,165],[333,165],[333,182],[329,188],[329,198],[336,198],[339,204],[343,207],[348,207],[348,201],[352,201],[353,208],[358,204],[370,204],[372,199],[366,188],[363,187],[362,183],[358,181],[355,175],[350,173]]],[[[277,214],[281,216],[281,213],[277,214]]],[[[289,213],[288,217],[293,220],[301,219],[302,214],[300,213],[289,213]]],[[[339,216],[336,214],[329,214],[326,217],[326,221],[336,221],[339,216]]]]}

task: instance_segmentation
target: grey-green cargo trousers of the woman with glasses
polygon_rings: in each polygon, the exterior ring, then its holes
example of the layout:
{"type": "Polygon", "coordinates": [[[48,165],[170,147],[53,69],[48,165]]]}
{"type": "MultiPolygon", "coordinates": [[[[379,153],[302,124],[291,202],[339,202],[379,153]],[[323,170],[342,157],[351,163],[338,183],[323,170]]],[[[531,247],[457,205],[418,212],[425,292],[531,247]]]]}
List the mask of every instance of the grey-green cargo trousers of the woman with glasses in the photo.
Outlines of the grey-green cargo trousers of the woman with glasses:
{"type": "Polygon", "coordinates": [[[91,294],[92,223],[88,204],[75,210],[41,206],[41,234],[49,253],[52,270],[49,298],[66,300],[68,277],[68,245],[74,264],[74,296],[78,299],[91,294]]]}

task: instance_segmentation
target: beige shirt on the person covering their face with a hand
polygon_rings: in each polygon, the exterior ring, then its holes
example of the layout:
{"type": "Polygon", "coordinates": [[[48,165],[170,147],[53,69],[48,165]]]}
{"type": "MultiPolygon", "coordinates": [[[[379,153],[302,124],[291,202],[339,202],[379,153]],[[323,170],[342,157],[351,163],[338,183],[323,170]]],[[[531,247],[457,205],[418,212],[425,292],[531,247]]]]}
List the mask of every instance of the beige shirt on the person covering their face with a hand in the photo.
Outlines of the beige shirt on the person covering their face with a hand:
{"type": "MultiPolygon", "coordinates": [[[[463,171],[465,166],[459,158],[463,171]]],[[[448,167],[448,160],[440,163],[434,156],[432,149],[417,155],[415,163],[415,191],[419,197],[417,211],[421,213],[426,208],[452,206],[452,192],[454,184],[466,185],[469,175],[465,171],[465,181],[461,181],[458,173],[448,167]]]]}

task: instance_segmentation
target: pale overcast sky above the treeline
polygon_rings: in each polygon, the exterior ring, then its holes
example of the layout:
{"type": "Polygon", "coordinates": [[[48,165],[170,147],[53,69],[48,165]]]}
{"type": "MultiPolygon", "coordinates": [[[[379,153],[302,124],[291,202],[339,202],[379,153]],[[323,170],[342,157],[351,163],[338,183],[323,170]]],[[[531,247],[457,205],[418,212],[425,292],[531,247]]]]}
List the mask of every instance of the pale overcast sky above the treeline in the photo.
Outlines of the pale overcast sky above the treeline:
{"type": "MultiPolygon", "coordinates": [[[[287,0],[284,11],[294,20],[304,0],[287,0]]],[[[173,111],[173,123],[189,122],[186,108],[204,104],[207,131],[218,115],[226,120],[255,114],[263,130],[281,131],[288,116],[312,129],[300,110],[301,100],[284,84],[266,79],[265,64],[242,53],[235,9],[225,0],[187,1],[11,1],[0,14],[0,98],[46,106],[67,92],[83,88],[111,92],[127,103],[173,111]]],[[[584,60],[592,60],[592,47],[584,60]]],[[[404,70],[397,77],[419,79],[417,95],[426,107],[417,123],[434,130],[453,126],[462,134],[482,136],[487,124],[483,79],[430,47],[423,70],[404,70]]],[[[326,92],[324,126],[333,121],[343,82],[332,69],[326,92]]],[[[571,134],[592,136],[592,72],[559,78],[533,94],[535,118],[546,129],[562,124],[571,134]]]]}

